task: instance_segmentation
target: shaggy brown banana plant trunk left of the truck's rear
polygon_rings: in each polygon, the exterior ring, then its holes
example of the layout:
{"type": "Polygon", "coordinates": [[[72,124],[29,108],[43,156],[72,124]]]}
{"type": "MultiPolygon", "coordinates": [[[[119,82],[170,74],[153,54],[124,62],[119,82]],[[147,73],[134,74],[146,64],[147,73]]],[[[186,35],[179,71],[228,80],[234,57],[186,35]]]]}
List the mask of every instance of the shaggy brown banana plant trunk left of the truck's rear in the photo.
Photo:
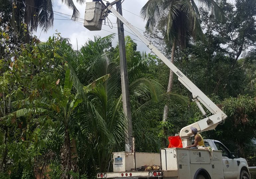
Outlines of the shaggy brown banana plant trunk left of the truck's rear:
{"type": "Polygon", "coordinates": [[[64,145],[61,153],[61,164],[62,164],[62,171],[63,171],[61,179],[70,179],[71,178],[70,174],[67,173],[72,168],[70,137],[69,137],[68,129],[65,129],[65,139],[64,139],[64,145]]]}

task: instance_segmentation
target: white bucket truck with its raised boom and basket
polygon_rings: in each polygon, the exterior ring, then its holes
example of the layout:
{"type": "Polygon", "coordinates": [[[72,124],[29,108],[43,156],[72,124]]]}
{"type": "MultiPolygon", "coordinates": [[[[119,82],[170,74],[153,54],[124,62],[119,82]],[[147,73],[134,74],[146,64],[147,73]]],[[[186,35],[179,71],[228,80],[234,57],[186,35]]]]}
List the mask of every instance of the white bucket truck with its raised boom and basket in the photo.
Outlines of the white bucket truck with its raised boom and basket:
{"type": "MultiPolygon", "coordinates": [[[[113,13],[133,33],[161,59],[177,76],[179,81],[192,93],[193,100],[205,116],[204,119],[184,127],[180,131],[183,147],[192,144],[191,127],[198,133],[213,130],[219,123],[223,123],[226,114],[217,107],[201,90],[199,90],[174,64],[172,64],[154,45],[138,32],[112,6],[120,1],[102,4],[101,0],[87,2],[84,27],[89,30],[101,30],[102,20],[113,13]],[[88,8],[87,8],[88,7],[88,8]],[[206,116],[203,107],[211,112],[206,116]]],[[[98,173],[97,178],[132,178],[132,179],[250,179],[247,161],[236,158],[223,144],[215,140],[205,140],[205,145],[212,151],[205,149],[167,148],[160,149],[160,153],[146,152],[114,152],[113,172],[98,173]],[[135,164],[136,158],[136,164],[135,164]],[[145,171],[145,165],[159,166],[157,170],[145,171]]],[[[155,167],[154,167],[155,168],[155,167]]]]}

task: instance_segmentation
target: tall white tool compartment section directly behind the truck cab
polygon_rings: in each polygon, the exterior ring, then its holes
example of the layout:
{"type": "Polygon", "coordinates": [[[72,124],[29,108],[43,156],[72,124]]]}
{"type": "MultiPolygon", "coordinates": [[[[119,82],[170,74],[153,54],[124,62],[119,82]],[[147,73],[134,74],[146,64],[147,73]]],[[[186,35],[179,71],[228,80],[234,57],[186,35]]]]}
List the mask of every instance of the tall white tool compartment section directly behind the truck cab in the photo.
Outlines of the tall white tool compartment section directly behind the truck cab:
{"type": "MultiPolygon", "coordinates": [[[[223,164],[221,151],[168,148],[161,149],[162,171],[178,171],[178,178],[191,179],[196,173],[206,171],[213,179],[223,179],[223,164]]],[[[165,174],[165,176],[167,176],[165,174]]]]}

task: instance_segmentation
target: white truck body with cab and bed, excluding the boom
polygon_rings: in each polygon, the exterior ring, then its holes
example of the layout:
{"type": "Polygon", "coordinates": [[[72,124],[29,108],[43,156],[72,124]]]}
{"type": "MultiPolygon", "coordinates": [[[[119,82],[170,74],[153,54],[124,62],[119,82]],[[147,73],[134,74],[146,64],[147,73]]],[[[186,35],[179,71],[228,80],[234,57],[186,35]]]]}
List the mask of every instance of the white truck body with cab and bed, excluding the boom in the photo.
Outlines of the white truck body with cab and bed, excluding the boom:
{"type": "Polygon", "coordinates": [[[114,152],[113,172],[98,173],[97,178],[197,179],[202,174],[204,179],[246,179],[240,178],[241,171],[249,173],[245,159],[235,158],[219,141],[204,142],[213,149],[211,155],[208,150],[185,148],[161,149],[160,153],[136,152],[136,168],[158,165],[159,171],[131,170],[133,153],[114,152]]]}

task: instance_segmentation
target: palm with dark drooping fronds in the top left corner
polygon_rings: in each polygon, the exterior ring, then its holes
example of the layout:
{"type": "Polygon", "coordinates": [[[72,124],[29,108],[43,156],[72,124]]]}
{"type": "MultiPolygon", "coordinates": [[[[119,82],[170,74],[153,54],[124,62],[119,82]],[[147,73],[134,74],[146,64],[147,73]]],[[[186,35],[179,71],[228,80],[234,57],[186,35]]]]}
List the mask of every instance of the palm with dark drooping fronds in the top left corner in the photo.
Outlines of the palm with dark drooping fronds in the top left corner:
{"type": "MultiPolygon", "coordinates": [[[[84,0],[76,0],[82,4],[84,0]]],[[[73,10],[71,19],[76,20],[79,17],[79,11],[75,7],[73,0],[62,0],[68,8],[73,10]]],[[[37,31],[40,27],[44,31],[48,31],[53,26],[54,11],[53,0],[13,0],[13,16],[16,22],[22,19],[26,27],[25,43],[29,43],[29,32],[37,31]]]]}

